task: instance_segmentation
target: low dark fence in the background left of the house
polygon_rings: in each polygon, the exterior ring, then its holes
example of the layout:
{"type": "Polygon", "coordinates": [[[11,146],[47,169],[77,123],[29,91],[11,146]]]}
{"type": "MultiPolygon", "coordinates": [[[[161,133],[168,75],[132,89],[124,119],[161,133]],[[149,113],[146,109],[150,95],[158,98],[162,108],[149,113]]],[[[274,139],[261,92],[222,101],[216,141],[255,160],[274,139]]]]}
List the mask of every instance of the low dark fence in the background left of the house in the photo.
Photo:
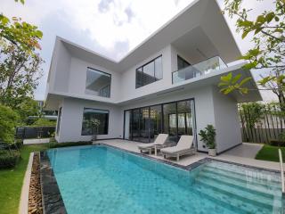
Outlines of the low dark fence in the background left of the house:
{"type": "Polygon", "coordinates": [[[18,127],[16,137],[20,139],[50,137],[55,131],[55,127],[18,127]]]}

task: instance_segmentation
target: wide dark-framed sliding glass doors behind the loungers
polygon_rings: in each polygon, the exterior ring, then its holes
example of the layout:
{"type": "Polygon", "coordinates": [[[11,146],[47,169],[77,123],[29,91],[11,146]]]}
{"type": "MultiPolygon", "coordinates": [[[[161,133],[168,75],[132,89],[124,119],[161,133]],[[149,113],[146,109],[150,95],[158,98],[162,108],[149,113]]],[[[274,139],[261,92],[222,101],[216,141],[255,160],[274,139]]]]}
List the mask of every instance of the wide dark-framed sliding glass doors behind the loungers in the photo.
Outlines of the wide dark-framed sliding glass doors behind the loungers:
{"type": "Polygon", "coordinates": [[[124,138],[143,143],[154,142],[160,133],[177,142],[180,136],[194,135],[194,101],[162,103],[125,111],[124,138]]]}

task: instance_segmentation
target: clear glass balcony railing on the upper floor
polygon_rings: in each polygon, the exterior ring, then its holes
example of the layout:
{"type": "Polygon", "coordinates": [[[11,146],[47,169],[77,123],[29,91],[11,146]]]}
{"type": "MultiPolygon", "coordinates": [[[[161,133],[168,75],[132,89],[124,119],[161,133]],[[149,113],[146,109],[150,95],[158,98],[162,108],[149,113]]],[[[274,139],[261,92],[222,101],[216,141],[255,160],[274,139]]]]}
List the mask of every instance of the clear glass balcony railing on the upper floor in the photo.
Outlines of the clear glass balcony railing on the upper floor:
{"type": "Polygon", "coordinates": [[[223,70],[227,65],[219,56],[214,56],[206,61],[190,65],[182,70],[172,72],[172,84],[183,82],[187,79],[207,75],[216,70],[223,70]]]}

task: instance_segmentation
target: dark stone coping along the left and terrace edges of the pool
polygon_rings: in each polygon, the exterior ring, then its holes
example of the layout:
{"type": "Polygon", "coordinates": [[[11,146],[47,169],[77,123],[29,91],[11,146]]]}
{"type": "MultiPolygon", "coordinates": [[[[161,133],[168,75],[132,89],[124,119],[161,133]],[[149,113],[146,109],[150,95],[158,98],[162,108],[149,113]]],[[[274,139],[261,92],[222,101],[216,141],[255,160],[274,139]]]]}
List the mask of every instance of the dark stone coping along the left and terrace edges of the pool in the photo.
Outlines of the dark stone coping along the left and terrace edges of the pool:
{"type": "MultiPolygon", "coordinates": [[[[175,162],[156,159],[154,157],[149,156],[148,154],[129,151],[123,148],[118,148],[110,144],[93,144],[93,145],[88,145],[88,146],[98,146],[98,145],[110,147],[110,148],[113,148],[113,149],[116,149],[122,152],[128,152],[136,156],[149,159],[151,161],[157,161],[157,162],[164,163],[164,164],[167,164],[169,166],[172,166],[178,169],[184,169],[188,171],[191,171],[192,169],[195,169],[206,162],[218,161],[218,162],[229,163],[229,164],[233,164],[233,165],[237,165],[237,166],[245,167],[249,169],[259,169],[259,170],[264,170],[264,171],[273,172],[277,174],[280,173],[278,170],[275,170],[275,169],[265,169],[265,168],[240,164],[240,163],[236,163],[232,161],[224,161],[224,160],[218,160],[218,159],[213,159],[213,158],[208,158],[208,157],[203,158],[199,161],[195,161],[189,165],[183,166],[175,162]]],[[[76,147],[76,146],[72,146],[72,147],[76,147]]],[[[68,148],[68,147],[65,147],[65,148],[68,148]]],[[[66,214],[67,210],[65,208],[65,205],[64,205],[64,202],[61,196],[61,191],[60,191],[59,185],[57,184],[56,178],[54,176],[53,168],[51,166],[51,163],[49,161],[46,151],[40,152],[40,179],[41,179],[44,214],[66,214]]]]}

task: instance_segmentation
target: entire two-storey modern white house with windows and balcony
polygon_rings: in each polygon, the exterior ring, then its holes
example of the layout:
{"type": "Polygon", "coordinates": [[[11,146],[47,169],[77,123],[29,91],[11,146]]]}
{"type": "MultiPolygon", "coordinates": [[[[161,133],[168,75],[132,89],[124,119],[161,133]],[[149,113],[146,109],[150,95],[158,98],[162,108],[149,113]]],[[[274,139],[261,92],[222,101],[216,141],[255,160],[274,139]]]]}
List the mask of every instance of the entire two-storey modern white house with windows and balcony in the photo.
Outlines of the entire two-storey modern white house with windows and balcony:
{"type": "Polygon", "coordinates": [[[219,92],[228,72],[251,77],[244,62],[227,65],[240,54],[215,0],[194,1],[118,62],[56,37],[45,100],[45,109],[59,112],[56,140],[89,141],[98,119],[98,139],[194,135],[206,152],[197,133],[212,124],[224,152],[241,144],[237,103],[262,100],[256,90],[219,92]]]}

